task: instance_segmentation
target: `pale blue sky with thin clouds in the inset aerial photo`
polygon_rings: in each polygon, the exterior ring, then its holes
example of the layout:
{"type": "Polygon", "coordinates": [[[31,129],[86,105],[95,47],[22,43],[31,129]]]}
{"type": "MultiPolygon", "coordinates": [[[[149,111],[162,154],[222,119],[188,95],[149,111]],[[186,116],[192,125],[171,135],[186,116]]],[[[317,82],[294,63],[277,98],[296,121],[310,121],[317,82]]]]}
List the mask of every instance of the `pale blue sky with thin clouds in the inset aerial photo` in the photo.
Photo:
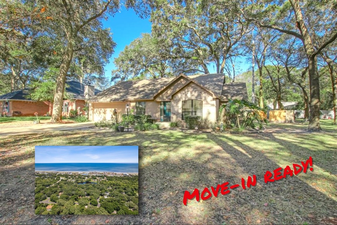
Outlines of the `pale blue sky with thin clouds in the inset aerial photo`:
{"type": "Polygon", "coordinates": [[[35,146],[35,163],[138,163],[138,146],[35,146]]]}

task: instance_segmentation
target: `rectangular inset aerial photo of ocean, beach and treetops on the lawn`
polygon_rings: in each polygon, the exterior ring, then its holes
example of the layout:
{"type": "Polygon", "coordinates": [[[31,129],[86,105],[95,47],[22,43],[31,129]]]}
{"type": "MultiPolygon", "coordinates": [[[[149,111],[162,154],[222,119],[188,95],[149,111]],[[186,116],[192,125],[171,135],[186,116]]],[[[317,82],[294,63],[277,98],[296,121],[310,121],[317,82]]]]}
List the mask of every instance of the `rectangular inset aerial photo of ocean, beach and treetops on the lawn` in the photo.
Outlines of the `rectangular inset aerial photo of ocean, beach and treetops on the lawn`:
{"type": "Polygon", "coordinates": [[[35,146],[35,214],[138,215],[138,146],[35,146]]]}

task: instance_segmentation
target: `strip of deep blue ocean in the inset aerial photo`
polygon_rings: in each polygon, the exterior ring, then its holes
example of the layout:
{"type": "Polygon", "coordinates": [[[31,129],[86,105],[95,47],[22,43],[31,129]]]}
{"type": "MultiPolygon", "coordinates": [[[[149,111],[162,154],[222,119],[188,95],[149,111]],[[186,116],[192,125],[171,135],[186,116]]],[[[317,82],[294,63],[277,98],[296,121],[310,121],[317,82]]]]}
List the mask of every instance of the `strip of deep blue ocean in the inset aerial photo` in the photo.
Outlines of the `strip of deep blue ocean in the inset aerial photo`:
{"type": "Polygon", "coordinates": [[[35,171],[138,173],[138,163],[35,163],[35,171]]]}

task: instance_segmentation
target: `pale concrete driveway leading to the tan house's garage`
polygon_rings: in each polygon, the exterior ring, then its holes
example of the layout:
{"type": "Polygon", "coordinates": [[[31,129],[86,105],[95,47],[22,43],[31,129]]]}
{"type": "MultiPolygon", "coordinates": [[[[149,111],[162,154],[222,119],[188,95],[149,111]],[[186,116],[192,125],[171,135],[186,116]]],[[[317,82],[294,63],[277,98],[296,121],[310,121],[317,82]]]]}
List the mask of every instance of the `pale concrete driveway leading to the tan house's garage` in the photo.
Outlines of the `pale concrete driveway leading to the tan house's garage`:
{"type": "Polygon", "coordinates": [[[94,126],[94,122],[68,123],[68,124],[37,124],[29,127],[15,127],[0,129],[0,136],[13,136],[24,134],[47,133],[53,131],[78,130],[94,126]]]}

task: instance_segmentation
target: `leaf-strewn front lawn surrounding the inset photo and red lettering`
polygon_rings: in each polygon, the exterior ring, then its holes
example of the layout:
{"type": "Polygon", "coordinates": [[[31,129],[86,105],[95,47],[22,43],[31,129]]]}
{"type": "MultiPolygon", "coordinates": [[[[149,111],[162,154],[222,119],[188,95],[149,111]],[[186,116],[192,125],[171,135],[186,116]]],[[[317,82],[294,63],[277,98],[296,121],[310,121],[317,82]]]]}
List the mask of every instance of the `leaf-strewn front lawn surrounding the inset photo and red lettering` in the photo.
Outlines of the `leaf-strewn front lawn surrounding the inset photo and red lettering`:
{"type": "MultiPolygon", "coordinates": [[[[328,125],[327,125],[328,126],[328,125]]],[[[179,131],[54,132],[0,138],[3,146],[0,175],[10,182],[1,202],[4,212],[0,223],[45,221],[34,216],[25,205],[34,204],[34,146],[37,145],[137,145],[139,146],[140,215],[115,216],[116,224],[317,224],[335,217],[337,204],[337,133],[259,133],[259,134],[192,134],[179,131]],[[265,184],[264,174],[278,167],[301,164],[311,156],[313,171],[265,184]],[[236,188],[228,195],[207,201],[191,200],[183,205],[185,190],[202,191],[217,184],[240,184],[241,178],[255,174],[257,185],[236,188]],[[12,177],[14,176],[15,179],[12,177]],[[17,179],[21,176],[21,179],[17,179]],[[23,180],[22,180],[23,179],[23,180]],[[17,187],[16,182],[31,188],[32,197],[17,187]],[[19,196],[22,196],[19,198],[19,196]],[[7,205],[8,204],[8,205],[7,205]],[[21,208],[20,214],[18,208],[21,208]],[[326,218],[326,219],[324,219],[326,218]]],[[[29,192],[30,193],[30,192],[29,192]]],[[[62,224],[60,217],[53,223],[62,224]]],[[[97,224],[109,216],[74,216],[66,223],[97,224]]],[[[42,222],[41,222],[42,223],[42,222]]]]}

